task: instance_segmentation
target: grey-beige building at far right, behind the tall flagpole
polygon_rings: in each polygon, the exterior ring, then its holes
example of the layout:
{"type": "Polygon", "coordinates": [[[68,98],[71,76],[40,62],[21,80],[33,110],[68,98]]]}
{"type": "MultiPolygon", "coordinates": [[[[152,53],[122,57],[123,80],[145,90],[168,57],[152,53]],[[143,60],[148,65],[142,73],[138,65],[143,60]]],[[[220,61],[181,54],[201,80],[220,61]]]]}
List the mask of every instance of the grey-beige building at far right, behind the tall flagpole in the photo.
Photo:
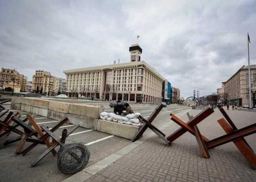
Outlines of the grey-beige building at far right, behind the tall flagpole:
{"type": "MultiPolygon", "coordinates": [[[[250,66],[252,105],[256,105],[256,64],[250,66]]],[[[249,73],[248,66],[242,66],[224,85],[229,105],[249,106],[249,73]]]]}

